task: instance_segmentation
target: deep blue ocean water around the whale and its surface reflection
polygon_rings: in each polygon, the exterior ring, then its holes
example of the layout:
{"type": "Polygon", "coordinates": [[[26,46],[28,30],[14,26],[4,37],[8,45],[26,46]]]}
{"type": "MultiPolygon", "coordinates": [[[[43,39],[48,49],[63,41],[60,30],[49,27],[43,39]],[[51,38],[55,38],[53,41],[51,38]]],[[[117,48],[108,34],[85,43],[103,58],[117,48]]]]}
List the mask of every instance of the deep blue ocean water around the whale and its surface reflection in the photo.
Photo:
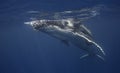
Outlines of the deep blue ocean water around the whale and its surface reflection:
{"type": "Polygon", "coordinates": [[[0,0],[0,73],[119,73],[120,1],[117,0],[0,0]],[[82,50],[66,46],[24,24],[28,11],[54,12],[103,5],[84,22],[106,52],[80,59],[82,50]]]}

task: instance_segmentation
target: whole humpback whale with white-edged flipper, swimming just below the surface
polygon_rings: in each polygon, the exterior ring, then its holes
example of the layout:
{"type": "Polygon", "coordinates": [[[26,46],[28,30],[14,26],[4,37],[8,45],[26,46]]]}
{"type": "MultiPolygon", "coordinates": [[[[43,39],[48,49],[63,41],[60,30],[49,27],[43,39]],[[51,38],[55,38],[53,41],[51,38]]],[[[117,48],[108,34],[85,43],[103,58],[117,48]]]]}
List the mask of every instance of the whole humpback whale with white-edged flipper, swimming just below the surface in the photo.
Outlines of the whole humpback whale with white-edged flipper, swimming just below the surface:
{"type": "Polygon", "coordinates": [[[87,54],[80,58],[88,56],[97,56],[104,60],[103,49],[93,40],[92,33],[81,23],[74,23],[71,19],[61,20],[33,20],[25,22],[31,25],[35,30],[49,34],[50,36],[61,40],[66,45],[74,44],[78,48],[85,50],[87,54]]]}

